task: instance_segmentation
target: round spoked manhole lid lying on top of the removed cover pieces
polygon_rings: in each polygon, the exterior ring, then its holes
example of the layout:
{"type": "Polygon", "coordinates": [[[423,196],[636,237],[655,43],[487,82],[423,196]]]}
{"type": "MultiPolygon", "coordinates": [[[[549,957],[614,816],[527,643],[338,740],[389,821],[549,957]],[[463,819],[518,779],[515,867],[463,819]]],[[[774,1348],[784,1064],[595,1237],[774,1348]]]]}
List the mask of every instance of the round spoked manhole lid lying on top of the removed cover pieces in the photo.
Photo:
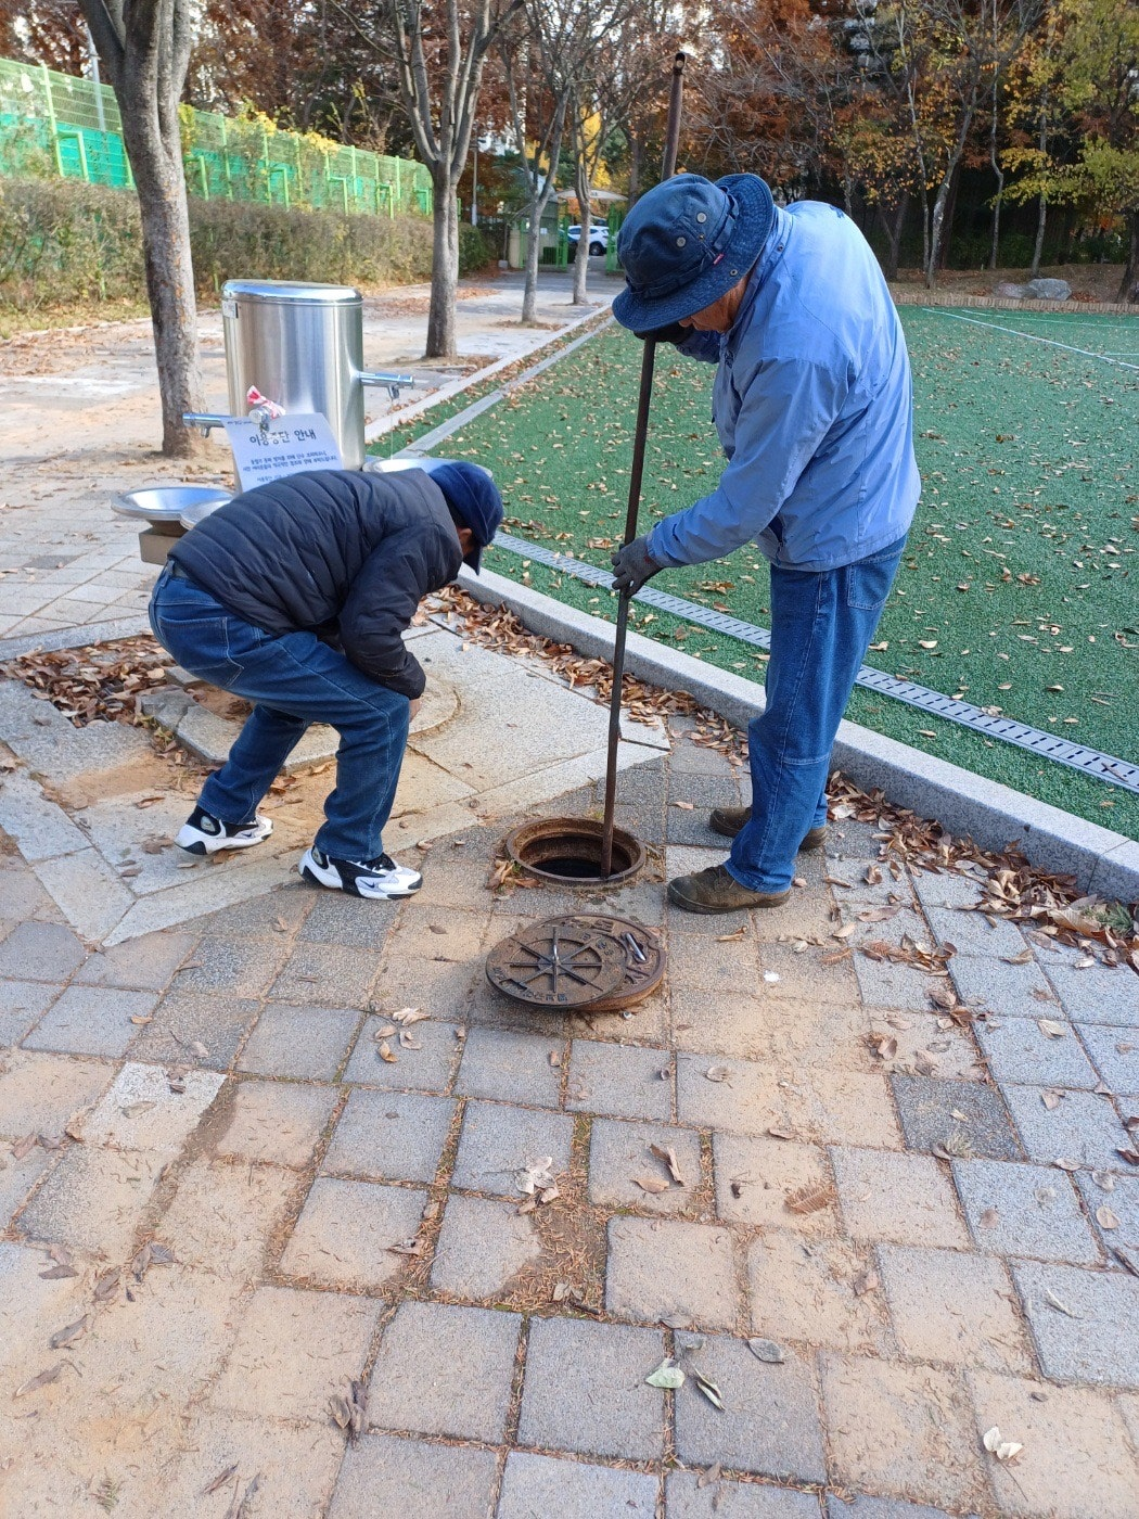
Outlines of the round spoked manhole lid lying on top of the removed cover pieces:
{"type": "Polygon", "coordinates": [[[589,1007],[624,981],[626,949],[580,921],[547,917],[495,945],[486,977],[500,992],[535,1007],[589,1007]]]}

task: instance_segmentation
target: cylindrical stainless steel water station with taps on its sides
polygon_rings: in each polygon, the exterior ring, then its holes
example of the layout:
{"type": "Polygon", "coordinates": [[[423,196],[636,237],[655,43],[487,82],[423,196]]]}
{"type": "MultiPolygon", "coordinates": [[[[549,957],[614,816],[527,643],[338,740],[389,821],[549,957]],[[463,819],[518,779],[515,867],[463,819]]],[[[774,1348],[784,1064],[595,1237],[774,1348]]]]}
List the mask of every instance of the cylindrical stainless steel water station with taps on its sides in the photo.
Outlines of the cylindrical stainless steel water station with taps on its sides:
{"type": "MultiPolygon", "coordinates": [[[[286,413],[319,412],[340,445],[346,469],[364,463],[364,386],[398,396],[413,375],[363,368],[363,296],[352,286],[292,279],[228,279],[222,287],[225,369],[231,416],[260,421],[251,390],[286,413]]],[[[199,427],[228,418],[191,413],[199,427]]]]}

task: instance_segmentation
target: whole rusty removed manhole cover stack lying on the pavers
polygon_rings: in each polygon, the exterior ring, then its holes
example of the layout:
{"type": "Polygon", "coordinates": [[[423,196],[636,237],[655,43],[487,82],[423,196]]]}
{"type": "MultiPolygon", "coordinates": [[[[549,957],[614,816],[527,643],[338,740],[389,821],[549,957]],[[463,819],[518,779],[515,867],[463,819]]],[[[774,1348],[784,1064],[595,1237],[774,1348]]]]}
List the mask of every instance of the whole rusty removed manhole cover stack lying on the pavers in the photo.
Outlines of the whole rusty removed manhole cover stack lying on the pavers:
{"type": "Polygon", "coordinates": [[[560,1012],[623,1012],[648,996],[664,972],[664,946],[650,928],[603,913],[544,917],[486,957],[497,990],[560,1012]]]}

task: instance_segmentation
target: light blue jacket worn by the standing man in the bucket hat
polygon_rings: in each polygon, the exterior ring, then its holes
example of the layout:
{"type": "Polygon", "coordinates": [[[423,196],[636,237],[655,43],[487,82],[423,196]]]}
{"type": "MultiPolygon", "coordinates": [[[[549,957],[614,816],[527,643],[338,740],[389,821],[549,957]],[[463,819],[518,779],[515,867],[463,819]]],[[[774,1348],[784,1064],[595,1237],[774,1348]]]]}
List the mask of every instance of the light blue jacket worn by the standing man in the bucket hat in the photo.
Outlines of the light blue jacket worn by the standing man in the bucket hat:
{"type": "Polygon", "coordinates": [[[922,489],[910,357],[878,260],[841,211],[776,208],[730,331],[696,333],[680,352],[718,365],[727,466],[711,495],[648,533],[658,564],[755,539],[778,565],[835,570],[907,532],[922,489]]]}

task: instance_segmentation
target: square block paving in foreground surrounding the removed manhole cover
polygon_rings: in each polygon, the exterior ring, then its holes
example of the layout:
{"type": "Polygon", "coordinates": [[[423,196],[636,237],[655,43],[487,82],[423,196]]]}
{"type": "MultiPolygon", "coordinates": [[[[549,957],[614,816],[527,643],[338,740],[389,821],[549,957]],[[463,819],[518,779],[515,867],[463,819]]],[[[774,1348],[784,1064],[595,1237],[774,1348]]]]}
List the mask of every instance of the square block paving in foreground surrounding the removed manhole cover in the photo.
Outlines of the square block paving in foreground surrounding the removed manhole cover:
{"type": "MultiPolygon", "coordinates": [[[[738,794],[677,732],[621,820],[671,872],[738,794]]],[[[501,831],[93,951],[5,857],[3,1511],[1134,1519],[1139,978],[846,819],[778,911],[606,898],[665,989],[532,1015],[483,957],[580,898],[501,831]]]]}

